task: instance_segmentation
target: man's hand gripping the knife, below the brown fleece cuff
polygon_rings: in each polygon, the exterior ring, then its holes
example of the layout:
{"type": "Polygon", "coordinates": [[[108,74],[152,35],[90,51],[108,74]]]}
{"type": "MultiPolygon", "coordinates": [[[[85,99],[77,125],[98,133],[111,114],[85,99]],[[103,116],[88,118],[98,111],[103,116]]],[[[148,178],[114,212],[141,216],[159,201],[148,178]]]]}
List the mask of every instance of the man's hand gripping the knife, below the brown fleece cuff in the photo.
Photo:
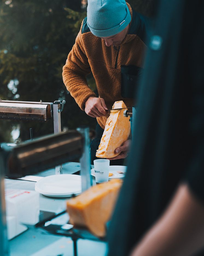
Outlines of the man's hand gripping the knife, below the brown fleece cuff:
{"type": "Polygon", "coordinates": [[[85,103],[85,112],[91,117],[105,116],[107,107],[102,98],[89,97],[85,103]]]}

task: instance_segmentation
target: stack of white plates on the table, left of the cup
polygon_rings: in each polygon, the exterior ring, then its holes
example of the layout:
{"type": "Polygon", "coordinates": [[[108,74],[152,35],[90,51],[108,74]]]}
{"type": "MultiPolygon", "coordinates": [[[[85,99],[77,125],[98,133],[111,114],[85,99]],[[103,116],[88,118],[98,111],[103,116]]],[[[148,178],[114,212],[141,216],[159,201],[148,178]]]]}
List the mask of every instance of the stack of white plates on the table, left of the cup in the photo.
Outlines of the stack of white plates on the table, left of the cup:
{"type": "Polygon", "coordinates": [[[81,176],[74,174],[51,175],[36,182],[35,191],[49,197],[69,197],[81,193],[81,176]]]}

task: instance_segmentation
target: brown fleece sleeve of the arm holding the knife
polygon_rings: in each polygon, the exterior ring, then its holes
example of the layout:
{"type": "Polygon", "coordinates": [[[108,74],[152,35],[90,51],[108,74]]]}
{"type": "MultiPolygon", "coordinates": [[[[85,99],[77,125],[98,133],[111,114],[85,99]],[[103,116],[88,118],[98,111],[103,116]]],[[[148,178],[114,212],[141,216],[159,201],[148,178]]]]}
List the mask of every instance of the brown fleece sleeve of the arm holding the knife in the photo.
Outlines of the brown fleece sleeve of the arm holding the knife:
{"type": "Polygon", "coordinates": [[[96,97],[86,81],[86,75],[90,72],[91,67],[85,54],[80,31],[63,66],[62,77],[67,90],[82,110],[85,109],[85,102],[90,96],[96,97]]]}

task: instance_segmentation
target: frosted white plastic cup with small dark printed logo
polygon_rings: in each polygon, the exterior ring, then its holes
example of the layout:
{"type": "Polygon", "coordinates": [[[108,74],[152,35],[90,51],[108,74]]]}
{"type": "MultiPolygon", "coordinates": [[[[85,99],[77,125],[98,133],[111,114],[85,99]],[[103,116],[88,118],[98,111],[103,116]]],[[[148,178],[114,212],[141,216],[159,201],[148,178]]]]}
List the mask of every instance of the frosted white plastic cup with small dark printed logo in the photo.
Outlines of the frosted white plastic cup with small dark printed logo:
{"type": "Polygon", "coordinates": [[[110,160],[97,159],[94,160],[94,170],[96,183],[108,182],[110,160]]]}

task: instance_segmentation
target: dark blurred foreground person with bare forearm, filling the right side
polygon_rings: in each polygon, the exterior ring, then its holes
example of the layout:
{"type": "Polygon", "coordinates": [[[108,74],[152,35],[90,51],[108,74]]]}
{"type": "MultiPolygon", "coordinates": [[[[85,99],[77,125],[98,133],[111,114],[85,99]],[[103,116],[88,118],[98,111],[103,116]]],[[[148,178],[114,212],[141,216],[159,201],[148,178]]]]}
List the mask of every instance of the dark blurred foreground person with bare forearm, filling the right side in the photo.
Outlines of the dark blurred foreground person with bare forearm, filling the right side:
{"type": "Polygon", "coordinates": [[[160,1],[109,256],[204,255],[203,11],[160,1]]]}

